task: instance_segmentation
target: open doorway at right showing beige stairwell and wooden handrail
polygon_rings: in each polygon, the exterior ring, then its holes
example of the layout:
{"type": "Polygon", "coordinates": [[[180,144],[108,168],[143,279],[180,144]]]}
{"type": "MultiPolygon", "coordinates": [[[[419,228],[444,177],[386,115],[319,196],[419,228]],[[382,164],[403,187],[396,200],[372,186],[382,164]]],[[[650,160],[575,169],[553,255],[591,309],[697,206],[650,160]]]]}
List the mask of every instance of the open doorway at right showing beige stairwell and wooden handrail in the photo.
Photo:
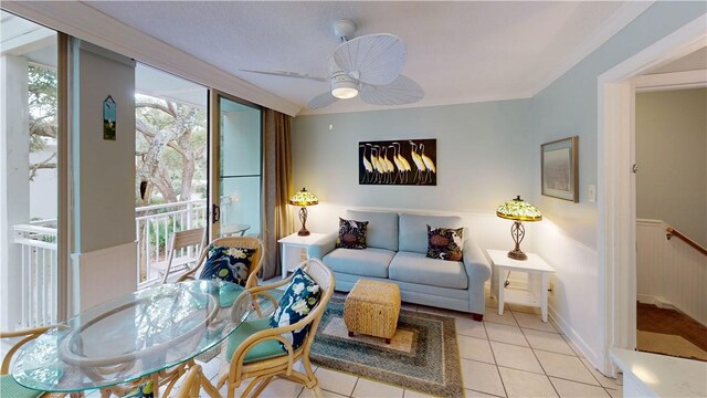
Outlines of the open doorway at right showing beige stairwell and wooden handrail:
{"type": "Polygon", "coordinates": [[[636,348],[707,360],[707,87],[642,84],[685,67],[707,48],[636,78],[636,348]]]}

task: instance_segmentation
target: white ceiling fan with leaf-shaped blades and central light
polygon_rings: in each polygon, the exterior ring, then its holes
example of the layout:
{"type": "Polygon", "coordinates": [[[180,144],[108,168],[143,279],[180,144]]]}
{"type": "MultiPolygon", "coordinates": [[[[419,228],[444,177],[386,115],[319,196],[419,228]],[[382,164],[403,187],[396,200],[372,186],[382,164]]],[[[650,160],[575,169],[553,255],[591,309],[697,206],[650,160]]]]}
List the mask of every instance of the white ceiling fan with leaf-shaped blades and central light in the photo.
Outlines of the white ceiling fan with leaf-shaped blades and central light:
{"type": "Polygon", "coordinates": [[[286,71],[242,71],[317,82],[328,81],[330,90],[309,100],[308,105],[312,109],[319,109],[339,100],[349,100],[358,95],[373,105],[404,105],[422,100],[424,92],[420,85],[401,74],[408,54],[405,43],[390,33],[351,39],[356,28],[356,23],[350,20],[338,20],[334,23],[334,33],[341,44],[329,57],[328,78],[286,71]]]}

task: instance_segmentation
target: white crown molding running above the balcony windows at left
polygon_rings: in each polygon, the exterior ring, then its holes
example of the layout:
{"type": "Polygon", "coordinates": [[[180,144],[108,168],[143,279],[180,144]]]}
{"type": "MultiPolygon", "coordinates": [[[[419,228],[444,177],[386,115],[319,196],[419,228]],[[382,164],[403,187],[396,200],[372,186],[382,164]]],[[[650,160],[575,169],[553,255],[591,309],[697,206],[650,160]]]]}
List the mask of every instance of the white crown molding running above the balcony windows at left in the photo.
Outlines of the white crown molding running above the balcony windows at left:
{"type": "Polygon", "coordinates": [[[203,62],[80,1],[3,1],[2,9],[194,83],[289,116],[299,106],[203,62]]]}

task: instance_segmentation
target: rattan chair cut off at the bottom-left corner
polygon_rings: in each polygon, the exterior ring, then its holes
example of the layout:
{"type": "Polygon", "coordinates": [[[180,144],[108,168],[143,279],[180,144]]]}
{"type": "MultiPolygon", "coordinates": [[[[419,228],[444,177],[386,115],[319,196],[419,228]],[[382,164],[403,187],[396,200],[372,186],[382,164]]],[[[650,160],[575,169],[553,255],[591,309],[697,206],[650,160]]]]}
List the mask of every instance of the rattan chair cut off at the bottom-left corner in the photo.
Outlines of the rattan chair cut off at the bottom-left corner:
{"type": "Polygon", "coordinates": [[[22,387],[18,384],[14,378],[9,375],[10,371],[10,362],[12,360],[12,356],[22,347],[24,344],[31,342],[36,338],[42,333],[53,328],[55,326],[43,326],[24,331],[17,332],[0,332],[0,339],[6,338],[20,338],[19,342],[12,344],[12,346],[4,354],[4,358],[2,358],[2,366],[0,367],[0,392],[2,392],[2,397],[12,397],[12,398],[59,398],[65,397],[66,394],[57,394],[57,392],[42,392],[33,389],[29,389],[22,387]]]}

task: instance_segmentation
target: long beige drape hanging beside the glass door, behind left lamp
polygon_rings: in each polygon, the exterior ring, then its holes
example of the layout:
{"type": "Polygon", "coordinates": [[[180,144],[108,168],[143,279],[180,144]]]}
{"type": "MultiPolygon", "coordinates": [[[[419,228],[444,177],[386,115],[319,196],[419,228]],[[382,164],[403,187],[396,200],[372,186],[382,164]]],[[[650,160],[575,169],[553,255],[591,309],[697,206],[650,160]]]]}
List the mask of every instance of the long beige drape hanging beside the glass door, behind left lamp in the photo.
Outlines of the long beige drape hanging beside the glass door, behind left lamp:
{"type": "Polygon", "coordinates": [[[261,276],[265,280],[281,274],[277,240],[294,232],[287,199],[293,193],[292,117],[265,109],[263,122],[263,219],[262,239],[265,258],[261,276]]]}

